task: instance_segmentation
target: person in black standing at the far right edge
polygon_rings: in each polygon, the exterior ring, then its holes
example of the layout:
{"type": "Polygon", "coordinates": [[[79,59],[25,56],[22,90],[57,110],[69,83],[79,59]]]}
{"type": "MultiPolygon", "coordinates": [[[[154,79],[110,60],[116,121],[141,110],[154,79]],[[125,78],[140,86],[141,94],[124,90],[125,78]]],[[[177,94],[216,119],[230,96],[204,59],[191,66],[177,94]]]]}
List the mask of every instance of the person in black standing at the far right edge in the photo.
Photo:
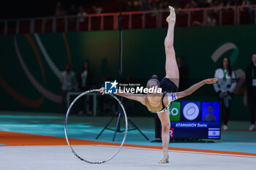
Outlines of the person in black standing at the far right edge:
{"type": "Polygon", "coordinates": [[[249,106],[251,125],[249,131],[255,130],[256,107],[256,53],[252,54],[252,63],[246,68],[247,101],[249,106]]]}

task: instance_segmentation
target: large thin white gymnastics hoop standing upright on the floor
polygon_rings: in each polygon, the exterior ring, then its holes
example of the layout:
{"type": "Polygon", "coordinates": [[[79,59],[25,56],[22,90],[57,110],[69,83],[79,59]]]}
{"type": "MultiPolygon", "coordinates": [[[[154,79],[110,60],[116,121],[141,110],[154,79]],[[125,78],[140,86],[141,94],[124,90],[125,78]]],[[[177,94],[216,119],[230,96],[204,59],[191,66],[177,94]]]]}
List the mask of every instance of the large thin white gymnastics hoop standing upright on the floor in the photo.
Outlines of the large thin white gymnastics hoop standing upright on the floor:
{"type": "Polygon", "coordinates": [[[93,162],[93,161],[87,161],[87,160],[81,158],[81,157],[75,152],[75,150],[73,150],[72,146],[69,144],[69,138],[68,138],[68,136],[67,136],[67,119],[68,119],[68,117],[69,117],[69,112],[70,112],[70,110],[72,109],[73,104],[75,104],[75,101],[77,101],[80,97],[82,97],[82,96],[84,96],[84,95],[86,95],[86,94],[88,94],[88,93],[92,93],[92,92],[99,92],[99,89],[93,89],[93,90],[85,91],[85,92],[81,93],[78,97],[76,97],[76,98],[72,101],[72,103],[71,103],[70,106],[69,106],[69,109],[67,109],[67,115],[66,115],[66,117],[65,117],[65,128],[64,128],[64,129],[65,129],[65,137],[66,137],[66,140],[67,140],[67,144],[69,145],[69,147],[70,147],[71,151],[73,152],[73,154],[74,154],[77,158],[79,158],[81,161],[84,161],[84,162],[86,162],[86,163],[99,164],[99,163],[105,163],[105,162],[110,161],[110,160],[111,160],[112,158],[114,158],[114,157],[118,154],[118,152],[121,150],[121,147],[123,147],[123,144],[124,144],[124,142],[125,142],[125,139],[127,139],[128,123],[127,123],[127,113],[125,112],[125,109],[124,109],[123,104],[121,104],[121,101],[120,101],[116,96],[114,96],[113,94],[109,94],[110,96],[112,96],[113,98],[115,98],[116,101],[118,101],[118,104],[121,106],[121,109],[123,109],[123,112],[124,112],[124,119],[125,119],[124,139],[123,139],[123,141],[121,142],[121,145],[120,145],[120,147],[118,148],[118,150],[116,151],[116,153],[115,153],[112,157],[110,157],[110,158],[108,158],[108,159],[106,159],[106,160],[104,160],[104,161],[93,162]]]}

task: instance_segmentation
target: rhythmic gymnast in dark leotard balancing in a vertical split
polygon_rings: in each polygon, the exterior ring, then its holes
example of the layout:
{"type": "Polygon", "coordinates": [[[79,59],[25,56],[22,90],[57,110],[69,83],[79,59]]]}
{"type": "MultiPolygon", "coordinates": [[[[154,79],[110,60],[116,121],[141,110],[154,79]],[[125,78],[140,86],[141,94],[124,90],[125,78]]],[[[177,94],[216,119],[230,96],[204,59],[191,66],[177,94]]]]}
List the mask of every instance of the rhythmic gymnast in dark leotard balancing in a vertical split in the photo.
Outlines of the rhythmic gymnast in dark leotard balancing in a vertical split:
{"type": "MultiPolygon", "coordinates": [[[[166,76],[159,82],[156,76],[152,76],[147,82],[147,88],[162,88],[162,93],[147,93],[147,94],[135,94],[135,93],[118,93],[116,95],[123,96],[135,101],[139,101],[141,104],[145,105],[150,112],[157,113],[161,123],[162,123],[162,150],[164,157],[159,163],[168,163],[168,145],[170,142],[170,117],[169,109],[173,104],[173,101],[178,98],[183,98],[189,96],[195,90],[202,87],[205,84],[213,84],[217,82],[217,78],[206,79],[197,82],[190,88],[184,91],[178,92],[179,83],[179,73],[178,66],[176,63],[176,55],[173,47],[173,34],[174,26],[176,23],[176,13],[173,7],[170,7],[170,15],[166,18],[168,23],[167,36],[165,38],[165,72],[166,76]]],[[[105,93],[105,88],[99,89],[102,95],[105,93]]]]}

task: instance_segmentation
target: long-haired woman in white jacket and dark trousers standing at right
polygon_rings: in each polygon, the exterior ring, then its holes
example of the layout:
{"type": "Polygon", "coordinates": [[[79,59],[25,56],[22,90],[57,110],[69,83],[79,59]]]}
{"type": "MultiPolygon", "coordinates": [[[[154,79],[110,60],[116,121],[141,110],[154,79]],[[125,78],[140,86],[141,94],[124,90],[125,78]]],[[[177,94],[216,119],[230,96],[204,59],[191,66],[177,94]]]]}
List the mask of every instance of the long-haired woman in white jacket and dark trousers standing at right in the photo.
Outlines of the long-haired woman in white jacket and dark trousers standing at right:
{"type": "Polygon", "coordinates": [[[219,79],[214,83],[214,90],[217,92],[217,98],[222,102],[222,130],[226,131],[233,91],[236,88],[236,74],[230,66],[230,58],[223,58],[221,68],[216,70],[214,77],[219,79]]]}

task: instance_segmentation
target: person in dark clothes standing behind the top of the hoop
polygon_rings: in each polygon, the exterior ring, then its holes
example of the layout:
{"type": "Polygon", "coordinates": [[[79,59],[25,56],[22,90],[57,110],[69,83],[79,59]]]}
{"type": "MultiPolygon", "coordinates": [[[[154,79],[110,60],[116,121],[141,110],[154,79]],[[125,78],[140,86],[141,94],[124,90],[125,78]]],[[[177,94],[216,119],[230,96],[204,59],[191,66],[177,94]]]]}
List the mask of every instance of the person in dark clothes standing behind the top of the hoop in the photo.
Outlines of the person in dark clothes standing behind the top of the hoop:
{"type": "MultiPolygon", "coordinates": [[[[82,91],[86,91],[91,89],[91,85],[92,85],[92,75],[91,75],[91,70],[89,68],[89,63],[85,62],[83,63],[82,66],[82,70],[79,74],[79,88],[82,91]]],[[[82,110],[79,112],[79,115],[83,115],[83,110],[85,109],[85,99],[86,98],[82,98],[82,110]]],[[[86,104],[86,106],[88,106],[88,104],[86,104]]],[[[91,115],[91,106],[92,106],[92,98],[91,96],[89,96],[89,112],[88,115],[91,115]]]]}

